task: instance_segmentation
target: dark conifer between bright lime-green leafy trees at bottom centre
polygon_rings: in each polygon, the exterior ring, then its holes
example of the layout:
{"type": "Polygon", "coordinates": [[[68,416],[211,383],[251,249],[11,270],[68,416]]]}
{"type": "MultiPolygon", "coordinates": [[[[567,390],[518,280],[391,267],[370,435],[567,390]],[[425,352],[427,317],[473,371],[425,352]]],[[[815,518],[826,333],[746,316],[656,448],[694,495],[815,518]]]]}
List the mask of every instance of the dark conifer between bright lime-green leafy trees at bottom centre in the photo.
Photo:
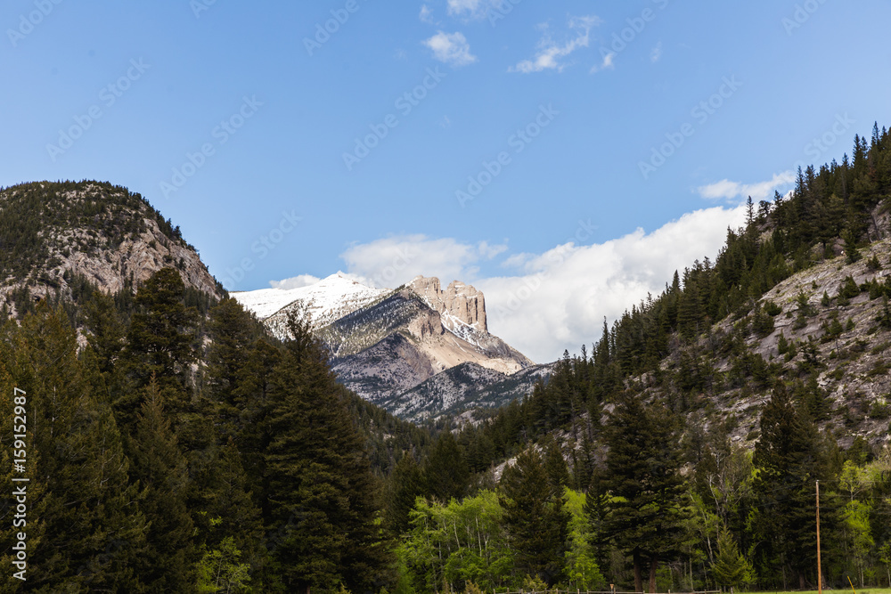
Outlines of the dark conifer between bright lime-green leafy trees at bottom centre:
{"type": "Polygon", "coordinates": [[[560,582],[569,516],[562,492],[552,489],[535,448],[520,453],[516,464],[505,468],[500,499],[519,575],[538,577],[549,586],[560,582]]]}

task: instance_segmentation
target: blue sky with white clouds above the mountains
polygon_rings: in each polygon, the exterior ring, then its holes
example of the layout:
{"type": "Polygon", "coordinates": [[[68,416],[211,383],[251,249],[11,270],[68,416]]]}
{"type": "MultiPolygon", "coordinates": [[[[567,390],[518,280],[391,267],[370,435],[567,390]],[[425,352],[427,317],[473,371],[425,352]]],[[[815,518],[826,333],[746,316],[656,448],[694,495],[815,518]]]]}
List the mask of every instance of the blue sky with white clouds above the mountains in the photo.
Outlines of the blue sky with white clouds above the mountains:
{"type": "Polygon", "coordinates": [[[714,256],[746,195],[891,124],[888,22],[879,0],[9,0],[0,184],[126,185],[230,289],[461,278],[545,360],[714,256]]]}

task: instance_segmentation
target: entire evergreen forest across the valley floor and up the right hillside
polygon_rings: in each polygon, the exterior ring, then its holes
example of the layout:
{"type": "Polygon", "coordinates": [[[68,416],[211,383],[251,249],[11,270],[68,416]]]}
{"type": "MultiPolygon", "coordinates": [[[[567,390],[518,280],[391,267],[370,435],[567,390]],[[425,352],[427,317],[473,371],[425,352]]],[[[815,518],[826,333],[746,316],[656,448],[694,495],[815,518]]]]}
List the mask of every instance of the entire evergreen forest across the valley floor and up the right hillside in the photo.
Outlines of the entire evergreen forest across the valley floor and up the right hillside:
{"type": "MultiPolygon", "coordinates": [[[[564,354],[523,401],[463,427],[415,427],[364,403],[299,314],[293,339],[270,338],[176,266],[110,295],[72,277],[36,302],[20,285],[0,330],[0,406],[27,395],[29,450],[22,474],[4,412],[0,472],[30,479],[27,591],[807,589],[818,481],[824,583],[891,586],[887,440],[827,425],[838,411],[818,382],[820,343],[781,339],[772,359],[746,346],[773,330],[781,307],[762,297],[777,283],[853,264],[885,238],[889,198],[891,138],[875,126],[853,159],[750,200],[714,263],[675,273],[605,323],[590,353],[564,354]],[[752,447],[715,413],[727,387],[763,396],[752,447]]],[[[38,220],[12,246],[31,264],[38,220]]],[[[879,272],[888,256],[867,264],[879,272]]],[[[29,278],[18,260],[4,266],[29,278]]],[[[852,279],[820,308],[876,304],[884,313],[862,330],[879,343],[889,297],[887,281],[852,279]]],[[[814,308],[805,299],[797,315],[814,308]]],[[[838,315],[823,336],[850,323],[838,315]]],[[[887,402],[869,414],[891,417],[887,402]]],[[[0,500],[7,567],[13,514],[0,500]]]]}

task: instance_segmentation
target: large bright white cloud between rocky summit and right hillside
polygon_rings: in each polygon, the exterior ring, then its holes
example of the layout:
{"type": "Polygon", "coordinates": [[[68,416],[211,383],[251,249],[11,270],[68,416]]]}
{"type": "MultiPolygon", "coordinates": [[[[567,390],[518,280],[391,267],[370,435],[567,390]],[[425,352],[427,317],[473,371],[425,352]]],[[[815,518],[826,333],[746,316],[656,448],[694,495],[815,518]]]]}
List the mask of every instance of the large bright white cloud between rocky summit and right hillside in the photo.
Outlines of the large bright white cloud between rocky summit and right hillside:
{"type": "Polygon", "coordinates": [[[511,256],[511,276],[478,279],[489,330],[537,362],[577,353],[609,323],[650,293],[656,297],[697,258],[714,258],[727,227],[745,221],[745,208],[712,207],[591,246],[567,243],[540,255],[511,256]]]}

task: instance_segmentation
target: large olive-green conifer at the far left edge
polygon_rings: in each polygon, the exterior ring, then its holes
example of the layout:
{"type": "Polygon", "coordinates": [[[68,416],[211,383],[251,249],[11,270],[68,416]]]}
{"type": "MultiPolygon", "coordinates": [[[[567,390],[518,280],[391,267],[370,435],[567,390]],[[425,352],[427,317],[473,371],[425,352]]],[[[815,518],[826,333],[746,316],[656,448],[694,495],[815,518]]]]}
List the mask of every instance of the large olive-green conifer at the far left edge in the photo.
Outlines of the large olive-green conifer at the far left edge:
{"type": "Polygon", "coordinates": [[[68,323],[39,305],[19,329],[7,326],[0,349],[3,388],[28,395],[26,468],[39,479],[28,488],[29,590],[139,592],[146,530],[139,493],[110,407],[88,380],[99,372],[78,360],[68,323]]]}

